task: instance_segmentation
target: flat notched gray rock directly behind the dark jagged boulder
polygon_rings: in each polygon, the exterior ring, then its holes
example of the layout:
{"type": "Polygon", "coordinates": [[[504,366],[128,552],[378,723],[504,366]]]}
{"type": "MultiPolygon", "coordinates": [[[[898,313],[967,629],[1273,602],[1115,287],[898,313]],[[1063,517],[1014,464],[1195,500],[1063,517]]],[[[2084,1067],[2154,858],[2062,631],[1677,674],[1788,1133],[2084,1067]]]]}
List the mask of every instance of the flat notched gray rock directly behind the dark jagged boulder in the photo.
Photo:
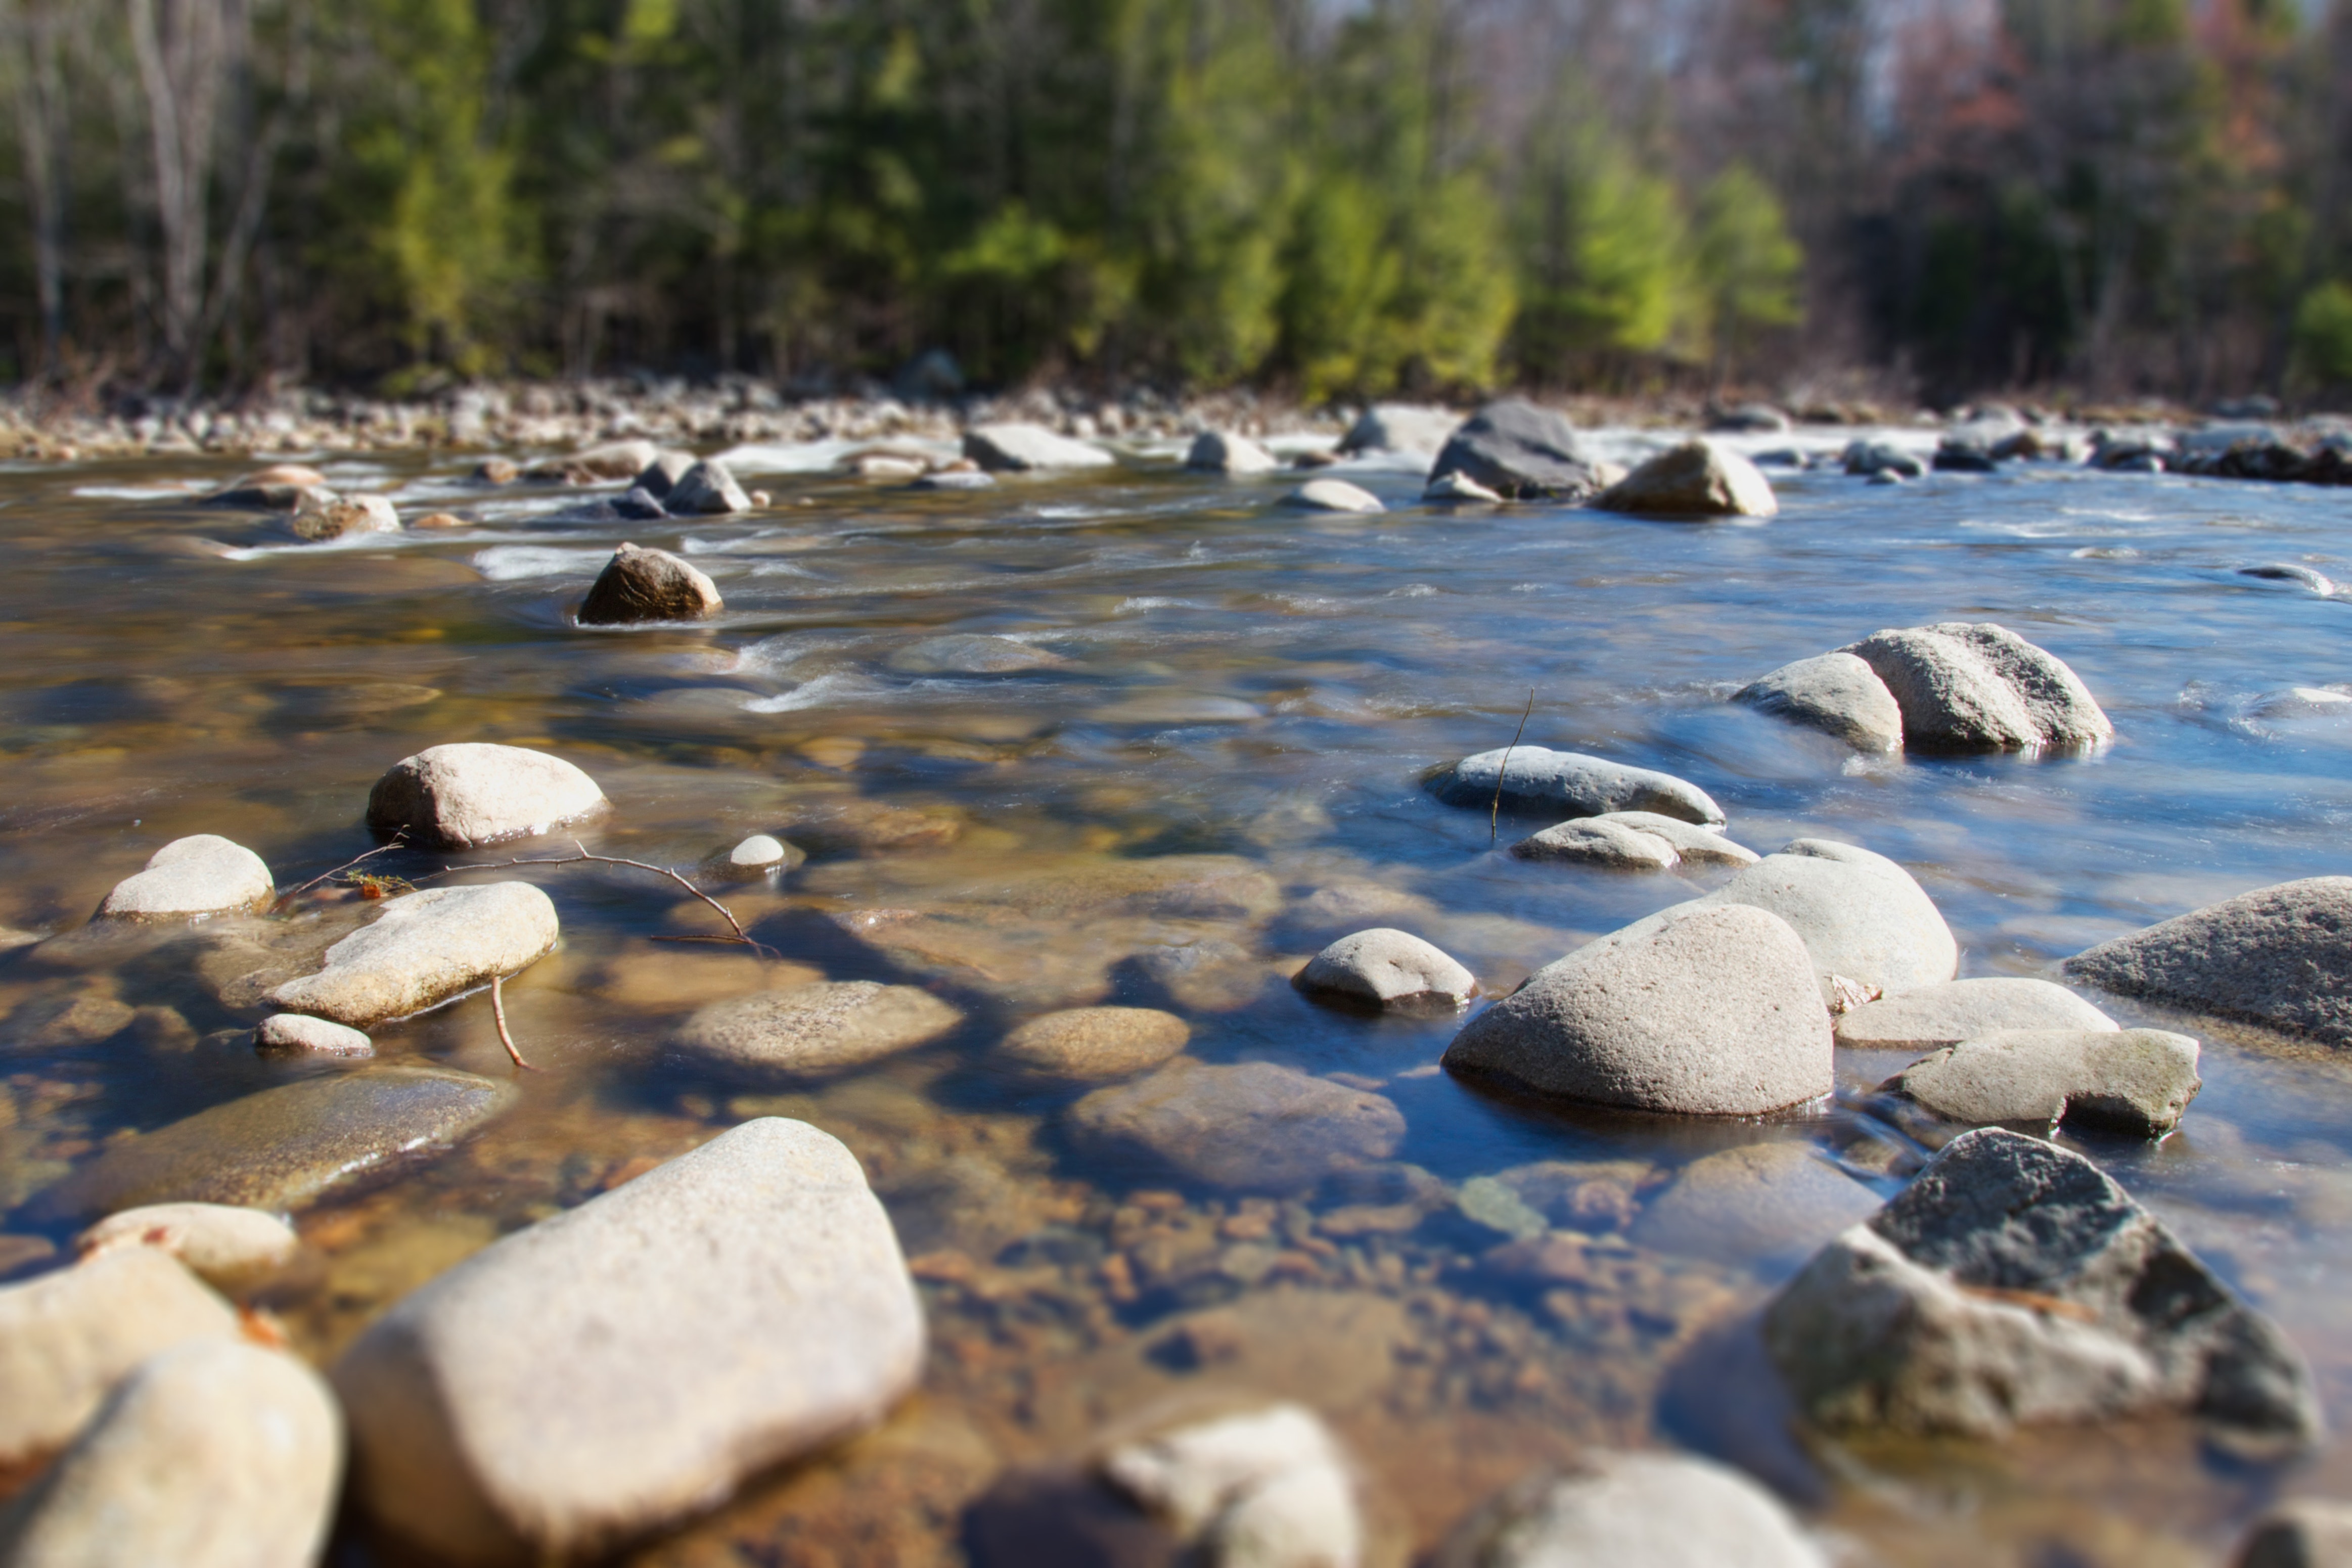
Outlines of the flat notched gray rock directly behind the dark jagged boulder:
{"type": "Polygon", "coordinates": [[[2164,1030],[2002,1030],[1926,1056],[1886,1091],[1969,1126],[2161,1138],[2204,1081],[2197,1041],[2164,1030]]]}

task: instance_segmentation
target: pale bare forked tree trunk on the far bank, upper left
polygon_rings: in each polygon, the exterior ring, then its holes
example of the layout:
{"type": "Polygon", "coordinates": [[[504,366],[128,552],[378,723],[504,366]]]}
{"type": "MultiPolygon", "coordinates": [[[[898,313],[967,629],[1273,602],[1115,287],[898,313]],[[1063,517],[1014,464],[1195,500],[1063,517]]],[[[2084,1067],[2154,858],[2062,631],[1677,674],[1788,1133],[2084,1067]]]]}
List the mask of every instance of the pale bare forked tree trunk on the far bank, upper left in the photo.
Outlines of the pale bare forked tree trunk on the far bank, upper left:
{"type": "Polygon", "coordinates": [[[127,7],[155,162],[165,374],[193,386],[207,336],[212,129],[221,87],[242,63],[249,16],[245,0],[127,0],[127,7]]]}

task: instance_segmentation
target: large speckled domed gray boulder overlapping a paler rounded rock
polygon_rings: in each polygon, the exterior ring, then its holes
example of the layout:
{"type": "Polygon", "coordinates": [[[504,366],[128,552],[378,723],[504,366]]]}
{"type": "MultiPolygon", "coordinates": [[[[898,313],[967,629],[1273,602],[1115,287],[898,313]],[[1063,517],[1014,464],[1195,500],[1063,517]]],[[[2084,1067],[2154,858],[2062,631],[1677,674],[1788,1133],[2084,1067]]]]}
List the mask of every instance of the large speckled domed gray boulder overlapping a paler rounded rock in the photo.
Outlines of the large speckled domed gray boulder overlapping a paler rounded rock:
{"type": "Polygon", "coordinates": [[[1444,1065],[1585,1105],[1762,1117],[1830,1093],[1830,1058],[1797,933],[1764,910],[1677,905],[1538,969],[1444,1065]]]}

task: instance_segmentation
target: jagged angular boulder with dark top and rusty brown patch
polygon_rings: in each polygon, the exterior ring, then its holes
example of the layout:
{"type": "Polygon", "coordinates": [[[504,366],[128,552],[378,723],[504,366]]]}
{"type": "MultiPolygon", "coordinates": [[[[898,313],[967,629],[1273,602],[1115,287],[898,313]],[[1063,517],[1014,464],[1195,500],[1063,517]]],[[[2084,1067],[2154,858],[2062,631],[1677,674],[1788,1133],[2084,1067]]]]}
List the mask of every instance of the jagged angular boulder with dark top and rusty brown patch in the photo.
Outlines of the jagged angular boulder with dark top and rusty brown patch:
{"type": "Polygon", "coordinates": [[[1962,1133],[1773,1298],[1764,1342],[1830,1429],[1999,1436],[2178,1410],[2223,1441],[2319,1434],[2277,1324],[2082,1154],[1962,1133]]]}

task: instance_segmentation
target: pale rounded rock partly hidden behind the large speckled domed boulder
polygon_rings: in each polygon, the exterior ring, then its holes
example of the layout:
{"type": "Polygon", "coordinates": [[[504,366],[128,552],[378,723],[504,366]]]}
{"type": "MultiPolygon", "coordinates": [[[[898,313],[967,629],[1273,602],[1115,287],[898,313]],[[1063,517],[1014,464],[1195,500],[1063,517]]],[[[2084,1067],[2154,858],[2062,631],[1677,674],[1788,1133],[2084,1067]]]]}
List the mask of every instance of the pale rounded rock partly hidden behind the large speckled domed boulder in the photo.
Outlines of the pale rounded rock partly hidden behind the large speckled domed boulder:
{"type": "Polygon", "coordinates": [[[1825,1001],[1832,976],[1893,994],[1940,985],[1959,971],[1959,943],[1926,889],[1886,856],[1856,844],[1797,839],[1700,903],[1743,903],[1795,926],[1813,954],[1825,1001]]]}

